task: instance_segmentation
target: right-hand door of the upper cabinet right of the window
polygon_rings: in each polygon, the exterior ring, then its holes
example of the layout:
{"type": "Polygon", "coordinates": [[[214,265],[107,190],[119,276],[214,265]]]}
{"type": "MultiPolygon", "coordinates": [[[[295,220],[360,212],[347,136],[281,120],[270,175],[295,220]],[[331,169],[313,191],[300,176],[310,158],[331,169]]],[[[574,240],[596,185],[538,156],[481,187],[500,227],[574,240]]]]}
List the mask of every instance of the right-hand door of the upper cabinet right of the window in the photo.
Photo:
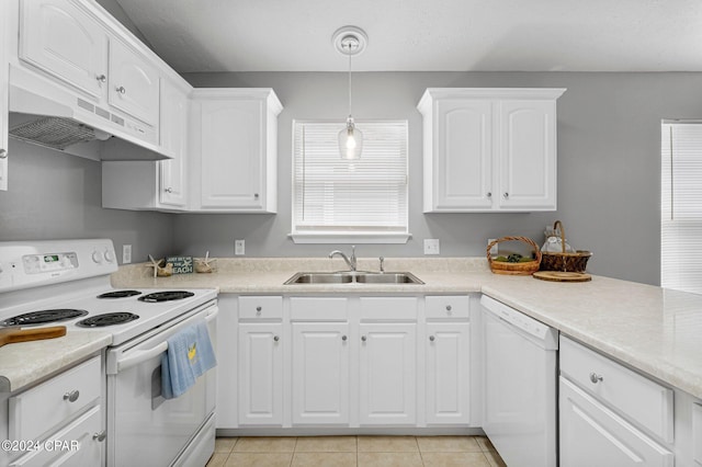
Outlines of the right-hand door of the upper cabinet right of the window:
{"type": "Polygon", "coordinates": [[[499,101],[499,206],[556,208],[556,102],[499,101]]]}

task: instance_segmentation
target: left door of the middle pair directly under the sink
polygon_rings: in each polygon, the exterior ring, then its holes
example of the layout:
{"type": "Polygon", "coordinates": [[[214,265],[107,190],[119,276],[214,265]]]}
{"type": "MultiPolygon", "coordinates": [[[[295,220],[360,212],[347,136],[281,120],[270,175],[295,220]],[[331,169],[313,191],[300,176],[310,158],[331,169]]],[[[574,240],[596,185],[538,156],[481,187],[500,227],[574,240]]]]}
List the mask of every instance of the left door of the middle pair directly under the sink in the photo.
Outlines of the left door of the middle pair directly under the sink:
{"type": "Polygon", "coordinates": [[[349,423],[349,324],[293,323],[293,423],[349,423]]]}

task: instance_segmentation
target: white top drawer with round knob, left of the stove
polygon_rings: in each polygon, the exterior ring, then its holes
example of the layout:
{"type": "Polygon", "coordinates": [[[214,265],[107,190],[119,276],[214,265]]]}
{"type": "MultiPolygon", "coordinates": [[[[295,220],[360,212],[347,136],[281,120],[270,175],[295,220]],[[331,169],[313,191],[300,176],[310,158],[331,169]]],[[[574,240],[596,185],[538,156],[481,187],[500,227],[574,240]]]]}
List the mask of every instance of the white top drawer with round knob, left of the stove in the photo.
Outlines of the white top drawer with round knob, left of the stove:
{"type": "Polygon", "coordinates": [[[100,399],[100,375],[97,356],[11,397],[10,440],[37,440],[46,430],[69,421],[100,399]]]}

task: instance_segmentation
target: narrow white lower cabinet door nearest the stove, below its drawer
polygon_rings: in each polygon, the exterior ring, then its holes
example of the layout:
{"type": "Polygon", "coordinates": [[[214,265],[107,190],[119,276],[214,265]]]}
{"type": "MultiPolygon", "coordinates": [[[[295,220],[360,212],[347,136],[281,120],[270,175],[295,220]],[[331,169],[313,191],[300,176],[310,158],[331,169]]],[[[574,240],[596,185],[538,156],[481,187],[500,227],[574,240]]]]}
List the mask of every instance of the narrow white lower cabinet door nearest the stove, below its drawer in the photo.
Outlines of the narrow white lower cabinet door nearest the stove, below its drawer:
{"type": "Polygon", "coordinates": [[[239,323],[239,424],[283,423],[281,323],[239,323]]]}

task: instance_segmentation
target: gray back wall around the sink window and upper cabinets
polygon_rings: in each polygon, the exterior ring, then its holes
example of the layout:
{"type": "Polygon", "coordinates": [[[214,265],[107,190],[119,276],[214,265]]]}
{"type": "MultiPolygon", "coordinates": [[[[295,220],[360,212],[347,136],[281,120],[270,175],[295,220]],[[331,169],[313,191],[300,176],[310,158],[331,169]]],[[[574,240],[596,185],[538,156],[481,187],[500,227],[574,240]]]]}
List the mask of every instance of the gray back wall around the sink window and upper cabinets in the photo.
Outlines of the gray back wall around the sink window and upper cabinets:
{"type": "MultiPolygon", "coordinates": [[[[335,246],[294,244],[291,229],[293,118],[343,118],[344,73],[190,73],[195,87],[270,87],[281,99],[278,215],[179,215],[177,250],[249,257],[322,257],[335,246]]],[[[659,283],[660,119],[702,116],[699,73],[385,72],[354,73],[353,113],[409,121],[412,239],[403,246],[359,246],[362,257],[422,255],[422,239],[439,238],[442,255],[484,255],[488,238],[524,235],[543,241],[561,219],[568,240],[595,252],[596,274],[659,283]],[[421,213],[421,116],[428,87],[558,87],[558,210],[532,214],[421,213]]]]}

